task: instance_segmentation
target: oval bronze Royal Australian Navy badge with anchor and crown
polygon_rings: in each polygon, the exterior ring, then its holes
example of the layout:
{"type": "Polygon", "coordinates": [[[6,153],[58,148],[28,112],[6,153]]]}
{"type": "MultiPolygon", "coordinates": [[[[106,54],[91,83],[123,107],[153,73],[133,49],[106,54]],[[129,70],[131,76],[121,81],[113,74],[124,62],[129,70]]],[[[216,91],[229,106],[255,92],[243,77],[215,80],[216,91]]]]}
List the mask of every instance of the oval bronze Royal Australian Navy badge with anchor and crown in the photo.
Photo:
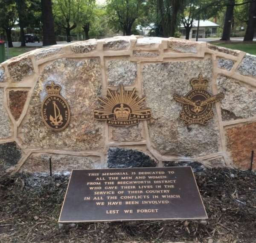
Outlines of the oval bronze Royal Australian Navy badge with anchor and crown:
{"type": "Polygon", "coordinates": [[[46,86],[46,91],[48,94],[41,105],[42,119],[50,129],[62,131],[70,122],[70,107],[60,95],[60,85],[51,82],[46,86]]]}

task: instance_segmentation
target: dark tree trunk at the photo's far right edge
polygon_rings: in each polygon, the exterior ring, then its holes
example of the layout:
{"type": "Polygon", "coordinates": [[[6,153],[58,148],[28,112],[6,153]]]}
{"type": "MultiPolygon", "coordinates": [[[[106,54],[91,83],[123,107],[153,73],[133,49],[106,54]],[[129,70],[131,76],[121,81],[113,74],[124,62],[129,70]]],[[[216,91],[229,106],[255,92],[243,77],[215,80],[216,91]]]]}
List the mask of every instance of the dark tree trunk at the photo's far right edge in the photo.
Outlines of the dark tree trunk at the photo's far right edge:
{"type": "Polygon", "coordinates": [[[244,41],[253,41],[254,31],[256,28],[256,0],[250,3],[249,6],[249,20],[247,23],[244,41]]]}

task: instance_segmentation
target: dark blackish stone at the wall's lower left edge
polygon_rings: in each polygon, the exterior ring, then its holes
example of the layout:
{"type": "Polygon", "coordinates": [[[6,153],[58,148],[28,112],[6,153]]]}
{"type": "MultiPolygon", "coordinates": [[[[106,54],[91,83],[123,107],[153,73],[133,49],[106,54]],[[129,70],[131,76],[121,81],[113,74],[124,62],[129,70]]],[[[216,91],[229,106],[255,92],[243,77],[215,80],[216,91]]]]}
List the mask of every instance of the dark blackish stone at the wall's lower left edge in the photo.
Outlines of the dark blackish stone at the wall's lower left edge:
{"type": "Polygon", "coordinates": [[[20,148],[15,142],[0,144],[0,174],[15,166],[21,157],[20,148]]]}

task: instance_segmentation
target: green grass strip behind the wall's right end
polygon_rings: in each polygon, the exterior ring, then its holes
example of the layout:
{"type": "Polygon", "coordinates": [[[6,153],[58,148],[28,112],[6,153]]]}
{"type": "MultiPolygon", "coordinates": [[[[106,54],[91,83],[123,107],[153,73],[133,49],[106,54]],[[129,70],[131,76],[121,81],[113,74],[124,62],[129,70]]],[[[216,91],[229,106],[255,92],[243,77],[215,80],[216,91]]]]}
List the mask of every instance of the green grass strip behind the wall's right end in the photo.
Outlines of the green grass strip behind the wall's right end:
{"type": "Polygon", "coordinates": [[[256,55],[256,41],[254,41],[253,43],[252,42],[243,43],[241,41],[220,42],[219,40],[218,41],[215,40],[210,43],[216,46],[223,46],[226,48],[240,50],[240,51],[244,51],[244,52],[256,55]]]}

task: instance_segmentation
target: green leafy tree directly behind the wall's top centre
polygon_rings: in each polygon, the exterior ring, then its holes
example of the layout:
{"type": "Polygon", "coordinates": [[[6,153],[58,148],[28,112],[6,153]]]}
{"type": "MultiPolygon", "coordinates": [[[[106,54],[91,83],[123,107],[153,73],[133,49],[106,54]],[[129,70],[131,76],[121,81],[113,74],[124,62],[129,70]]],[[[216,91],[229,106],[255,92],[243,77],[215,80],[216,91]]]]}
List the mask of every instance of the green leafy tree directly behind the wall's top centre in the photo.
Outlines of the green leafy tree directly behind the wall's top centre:
{"type": "Polygon", "coordinates": [[[113,29],[131,35],[135,20],[142,15],[144,0],[108,0],[107,14],[113,29]]]}

